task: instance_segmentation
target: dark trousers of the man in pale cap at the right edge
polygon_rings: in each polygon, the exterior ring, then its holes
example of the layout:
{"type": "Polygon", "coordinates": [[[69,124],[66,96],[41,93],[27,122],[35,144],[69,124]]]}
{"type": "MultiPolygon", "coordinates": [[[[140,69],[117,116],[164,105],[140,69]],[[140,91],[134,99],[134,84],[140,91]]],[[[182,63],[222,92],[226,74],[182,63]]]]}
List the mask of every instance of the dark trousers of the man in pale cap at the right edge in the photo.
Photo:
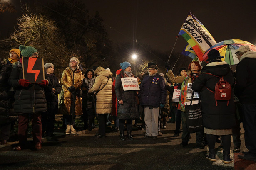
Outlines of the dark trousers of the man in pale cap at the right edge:
{"type": "Polygon", "coordinates": [[[249,154],[256,156],[256,104],[243,104],[245,146],[249,154]]]}

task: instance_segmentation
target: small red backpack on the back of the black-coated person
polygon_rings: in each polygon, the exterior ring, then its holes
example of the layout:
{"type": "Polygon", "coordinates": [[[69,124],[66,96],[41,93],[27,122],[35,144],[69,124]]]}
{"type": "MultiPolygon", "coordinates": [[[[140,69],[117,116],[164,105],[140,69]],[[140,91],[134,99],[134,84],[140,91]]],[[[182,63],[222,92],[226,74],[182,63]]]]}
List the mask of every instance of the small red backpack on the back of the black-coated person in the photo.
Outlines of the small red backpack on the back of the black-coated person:
{"type": "MultiPolygon", "coordinates": [[[[204,74],[213,75],[211,73],[204,73],[204,74]]],[[[213,92],[209,88],[207,88],[207,89],[214,93],[214,99],[215,99],[216,106],[218,106],[217,100],[227,100],[227,106],[228,106],[229,100],[231,99],[231,94],[232,94],[231,85],[229,84],[229,82],[224,80],[223,76],[222,77],[219,77],[216,75],[213,75],[213,76],[219,78],[219,81],[215,85],[215,90],[213,92]]]]}

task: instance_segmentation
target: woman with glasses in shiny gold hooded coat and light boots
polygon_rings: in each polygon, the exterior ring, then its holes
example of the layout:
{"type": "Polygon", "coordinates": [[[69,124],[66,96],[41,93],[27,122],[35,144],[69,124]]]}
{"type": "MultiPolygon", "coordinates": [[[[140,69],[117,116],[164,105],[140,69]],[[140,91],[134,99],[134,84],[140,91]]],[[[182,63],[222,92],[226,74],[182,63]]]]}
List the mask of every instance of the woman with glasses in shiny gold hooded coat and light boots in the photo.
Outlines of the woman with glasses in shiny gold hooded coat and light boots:
{"type": "MultiPolygon", "coordinates": [[[[67,67],[60,80],[62,89],[60,92],[59,113],[63,114],[66,127],[65,134],[76,134],[74,129],[76,114],[82,114],[81,100],[78,96],[80,86],[83,83],[80,62],[77,58],[70,58],[69,67],[67,67]]],[[[79,92],[80,93],[80,92],[79,92]]]]}

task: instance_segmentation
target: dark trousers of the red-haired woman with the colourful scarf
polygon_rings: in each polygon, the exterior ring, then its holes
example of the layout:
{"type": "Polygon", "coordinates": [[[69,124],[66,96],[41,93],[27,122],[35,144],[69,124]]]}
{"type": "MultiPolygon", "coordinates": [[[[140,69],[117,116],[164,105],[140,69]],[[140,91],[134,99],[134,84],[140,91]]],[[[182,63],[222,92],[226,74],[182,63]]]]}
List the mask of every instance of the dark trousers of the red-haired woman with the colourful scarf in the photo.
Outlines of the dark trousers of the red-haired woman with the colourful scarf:
{"type": "MultiPolygon", "coordinates": [[[[189,142],[189,128],[186,126],[186,113],[181,111],[181,121],[182,121],[182,142],[189,142]]],[[[196,143],[201,144],[203,142],[204,131],[196,132],[196,143]]]]}

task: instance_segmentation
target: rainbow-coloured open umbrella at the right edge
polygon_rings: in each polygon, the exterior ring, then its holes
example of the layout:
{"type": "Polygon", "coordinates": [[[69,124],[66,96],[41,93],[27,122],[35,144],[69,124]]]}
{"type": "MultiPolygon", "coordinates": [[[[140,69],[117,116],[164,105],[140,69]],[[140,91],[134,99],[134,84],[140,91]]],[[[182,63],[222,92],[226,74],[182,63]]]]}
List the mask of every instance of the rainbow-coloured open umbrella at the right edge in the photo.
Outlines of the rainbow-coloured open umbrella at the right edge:
{"type": "Polygon", "coordinates": [[[246,45],[248,45],[251,50],[256,51],[256,46],[254,46],[253,44],[251,44],[247,41],[243,41],[240,39],[229,39],[229,40],[221,41],[221,42],[215,44],[214,46],[212,46],[211,48],[209,48],[204,53],[203,59],[204,59],[204,61],[207,60],[208,52],[211,49],[216,49],[219,51],[221,56],[224,56],[224,58],[221,59],[222,61],[226,61],[230,65],[235,65],[239,62],[239,60],[235,54],[236,49],[238,49],[240,46],[246,46],[246,45]]]}

